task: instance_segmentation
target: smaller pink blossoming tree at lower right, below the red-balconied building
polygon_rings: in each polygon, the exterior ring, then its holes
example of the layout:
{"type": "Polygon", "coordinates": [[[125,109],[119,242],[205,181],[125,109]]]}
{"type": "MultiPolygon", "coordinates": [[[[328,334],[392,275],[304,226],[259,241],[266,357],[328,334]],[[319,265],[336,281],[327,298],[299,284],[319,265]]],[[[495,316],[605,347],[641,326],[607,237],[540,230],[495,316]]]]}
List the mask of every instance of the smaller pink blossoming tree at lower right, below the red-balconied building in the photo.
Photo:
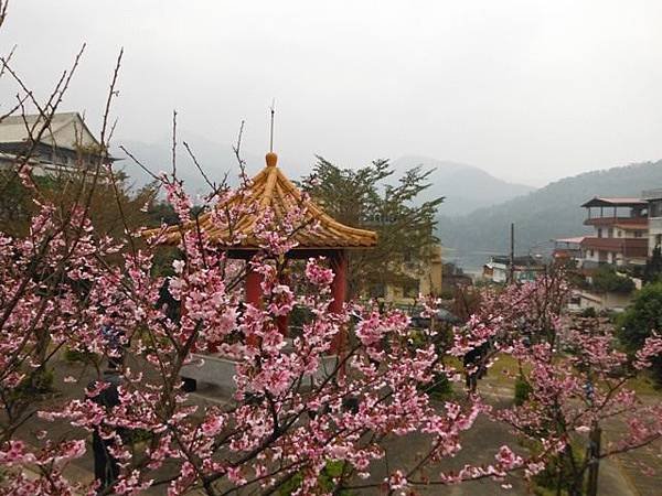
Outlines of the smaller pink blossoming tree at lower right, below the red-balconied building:
{"type": "Polygon", "coordinates": [[[489,341],[493,352],[483,357],[483,365],[499,353],[521,364],[519,380],[527,387],[519,386],[519,401],[512,408],[491,413],[530,442],[544,440],[534,451],[544,460],[530,465],[528,477],[557,460],[557,490],[565,487],[569,495],[579,496],[587,481],[595,481],[588,473],[599,460],[660,439],[654,425],[660,423],[662,407],[643,405],[627,384],[661,353],[662,338],[650,337],[634,356],[620,353],[607,320],[562,316],[568,291],[563,281],[563,272],[552,272],[483,295],[480,311],[456,336],[451,353],[461,356],[489,341]],[[627,432],[611,431],[615,438],[601,452],[577,456],[570,440],[584,433],[599,435],[602,424],[617,416],[627,432]]]}

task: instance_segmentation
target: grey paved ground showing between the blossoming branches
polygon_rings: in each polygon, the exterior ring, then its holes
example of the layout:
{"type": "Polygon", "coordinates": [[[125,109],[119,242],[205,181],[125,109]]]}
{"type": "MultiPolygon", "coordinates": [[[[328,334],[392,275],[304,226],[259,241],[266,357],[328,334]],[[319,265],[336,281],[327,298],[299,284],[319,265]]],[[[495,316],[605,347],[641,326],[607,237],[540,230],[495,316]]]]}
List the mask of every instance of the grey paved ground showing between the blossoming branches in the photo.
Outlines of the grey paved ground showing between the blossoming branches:
{"type": "MultiPolygon", "coordinates": [[[[134,368],[134,367],[132,367],[134,368]]],[[[62,382],[62,378],[67,375],[81,377],[79,384],[86,385],[92,380],[92,370],[83,371],[78,365],[63,364],[58,367],[56,381],[57,387],[63,393],[58,398],[49,401],[51,405],[57,405],[67,397],[81,395],[79,388],[76,390],[70,384],[62,382]]],[[[512,390],[491,384],[489,378],[481,381],[481,391],[488,400],[494,405],[504,405],[512,399],[512,390]]],[[[214,391],[204,391],[202,395],[194,396],[193,401],[196,403],[218,403],[220,400],[214,391]]],[[[53,430],[54,425],[41,420],[32,422],[23,432],[22,435],[30,436],[30,432],[35,432],[44,427],[53,430]]],[[[56,435],[83,435],[81,431],[76,431],[68,427],[60,425],[55,428],[56,435]]],[[[38,441],[33,439],[36,443],[38,441]]],[[[383,464],[374,467],[374,479],[382,481],[388,472],[386,463],[389,466],[399,465],[401,463],[412,462],[416,459],[418,452],[425,450],[427,440],[421,436],[408,436],[406,439],[396,439],[387,443],[387,457],[383,464]]],[[[455,470],[465,464],[491,463],[494,453],[502,444],[510,444],[514,448],[513,436],[509,433],[508,428],[489,421],[483,417],[479,417],[477,425],[465,433],[462,438],[463,449],[460,453],[450,460],[444,460],[436,467],[431,467],[430,475],[434,475],[435,470],[455,470]]],[[[93,461],[89,453],[77,460],[70,468],[67,474],[72,478],[78,481],[92,481],[93,461]]],[[[526,495],[531,494],[525,483],[517,477],[509,477],[505,483],[511,484],[512,488],[502,488],[499,483],[492,481],[481,481],[476,483],[465,483],[457,486],[442,487],[425,487],[421,493],[426,495],[446,495],[446,496],[480,496],[480,495],[526,495]]],[[[166,487],[153,488],[149,495],[166,494],[166,487]]],[[[360,494],[378,494],[378,492],[360,492],[360,494]]],[[[662,495],[662,453],[661,446],[655,445],[648,450],[629,453],[619,456],[613,461],[604,461],[600,465],[600,496],[661,496],[662,495]],[[654,476],[643,476],[641,465],[647,465],[656,468],[658,473],[654,476]]]]}

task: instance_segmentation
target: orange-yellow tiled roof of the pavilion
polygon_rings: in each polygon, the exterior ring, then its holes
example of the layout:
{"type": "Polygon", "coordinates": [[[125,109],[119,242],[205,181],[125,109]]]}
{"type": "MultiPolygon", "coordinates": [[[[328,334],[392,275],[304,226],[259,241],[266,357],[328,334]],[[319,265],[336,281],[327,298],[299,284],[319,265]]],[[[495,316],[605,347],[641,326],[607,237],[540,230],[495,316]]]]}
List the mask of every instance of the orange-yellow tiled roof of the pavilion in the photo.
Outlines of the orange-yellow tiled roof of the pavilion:
{"type": "MultiPolygon", "coordinates": [[[[276,165],[278,158],[275,153],[268,153],[266,160],[267,165],[253,177],[246,193],[215,206],[215,208],[224,208],[236,206],[239,202],[243,205],[242,211],[246,213],[242,214],[233,225],[233,238],[236,239],[238,234],[243,235],[239,244],[228,245],[231,235],[227,226],[215,225],[214,216],[210,212],[202,214],[197,224],[191,222],[184,226],[184,229],[200,227],[209,234],[212,241],[216,241],[227,249],[257,249],[258,242],[254,231],[259,215],[266,208],[271,208],[277,218],[282,218],[291,209],[303,206],[306,214],[302,226],[293,234],[293,238],[298,242],[295,250],[370,248],[377,244],[375,231],[345,226],[327,215],[312,201],[307,200],[276,165]]],[[[149,237],[160,233],[163,231],[151,229],[145,235],[149,237]]],[[[170,226],[163,233],[161,242],[177,245],[180,239],[181,227],[170,226]]]]}

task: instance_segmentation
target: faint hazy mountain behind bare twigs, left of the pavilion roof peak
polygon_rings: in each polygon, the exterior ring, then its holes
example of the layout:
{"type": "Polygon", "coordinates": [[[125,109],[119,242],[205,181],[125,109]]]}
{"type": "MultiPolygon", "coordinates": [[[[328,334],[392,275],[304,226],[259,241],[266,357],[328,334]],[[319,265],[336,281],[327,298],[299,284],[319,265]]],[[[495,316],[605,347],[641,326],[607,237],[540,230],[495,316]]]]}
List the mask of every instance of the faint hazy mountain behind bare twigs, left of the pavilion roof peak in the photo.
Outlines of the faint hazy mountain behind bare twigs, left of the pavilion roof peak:
{"type": "MultiPolygon", "coordinates": [[[[184,141],[191,147],[191,151],[197,159],[197,162],[210,181],[218,183],[225,173],[228,173],[231,183],[236,184],[239,168],[231,145],[220,144],[210,141],[206,138],[182,131],[178,137],[177,173],[180,179],[184,180],[184,187],[189,193],[203,193],[206,192],[209,187],[191,160],[189,152],[184,148],[184,141]]],[[[115,140],[115,145],[113,155],[122,159],[118,162],[118,168],[124,169],[137,187],[149,183],[151,177],[128,158],[127,154],[119,149],[119,145],[124,145],[134,157],[136,157],[136,159],[156,174],[162,171],[172,171],[171,138],[163,138],[152,143],[117,139],[115,140]]],[[[264,159],[258,160],[248,152],[242,152],[242,158],[247,162],[249,168],[254,168],[255,164],[261,164],[264,162],[264,159]]],[[[249,175],[254,172],[255,171],[249,171],[249,175]]]]}

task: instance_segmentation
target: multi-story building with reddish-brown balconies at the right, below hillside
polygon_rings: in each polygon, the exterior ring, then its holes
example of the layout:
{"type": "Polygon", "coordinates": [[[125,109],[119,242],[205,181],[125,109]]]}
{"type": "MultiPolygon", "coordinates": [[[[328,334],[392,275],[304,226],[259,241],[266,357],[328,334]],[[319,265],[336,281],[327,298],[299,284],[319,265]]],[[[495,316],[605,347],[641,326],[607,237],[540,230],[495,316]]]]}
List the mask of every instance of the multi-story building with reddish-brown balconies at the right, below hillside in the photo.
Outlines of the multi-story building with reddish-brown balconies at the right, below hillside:
{"type": "Polygon", "coordinates": [[[648,207],[641,198],[594,197],[584,205],[592,236],[581,239],[583,268],[600,263],[643,266],[649,252],[648,207]]]}

